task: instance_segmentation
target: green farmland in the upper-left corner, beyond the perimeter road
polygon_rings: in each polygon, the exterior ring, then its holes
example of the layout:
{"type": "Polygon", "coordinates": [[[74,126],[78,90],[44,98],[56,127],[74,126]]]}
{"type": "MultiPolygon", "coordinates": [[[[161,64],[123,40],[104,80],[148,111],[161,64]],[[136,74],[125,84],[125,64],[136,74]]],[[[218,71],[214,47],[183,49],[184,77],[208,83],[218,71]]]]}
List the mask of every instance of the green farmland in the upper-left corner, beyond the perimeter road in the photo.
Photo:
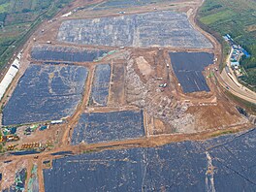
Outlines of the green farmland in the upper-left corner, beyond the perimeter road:
{"type": "Polygon", "coordinates": [[[0,0],[0,69],[36,26],[72,0],[0,0]]]}

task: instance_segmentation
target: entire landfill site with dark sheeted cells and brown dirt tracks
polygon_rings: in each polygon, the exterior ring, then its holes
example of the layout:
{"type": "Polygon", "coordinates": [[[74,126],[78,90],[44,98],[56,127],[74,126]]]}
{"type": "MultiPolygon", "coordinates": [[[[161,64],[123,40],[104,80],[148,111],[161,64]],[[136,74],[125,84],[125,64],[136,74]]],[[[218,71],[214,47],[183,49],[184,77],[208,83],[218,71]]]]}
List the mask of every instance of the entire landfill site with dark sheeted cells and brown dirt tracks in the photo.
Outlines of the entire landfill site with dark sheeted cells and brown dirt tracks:
{"type": "Polygon", "coordinates": [[[44,21],[6,75],[0,189],[254,191],[256,132],[201,5],[75,0],[44,21]]]}

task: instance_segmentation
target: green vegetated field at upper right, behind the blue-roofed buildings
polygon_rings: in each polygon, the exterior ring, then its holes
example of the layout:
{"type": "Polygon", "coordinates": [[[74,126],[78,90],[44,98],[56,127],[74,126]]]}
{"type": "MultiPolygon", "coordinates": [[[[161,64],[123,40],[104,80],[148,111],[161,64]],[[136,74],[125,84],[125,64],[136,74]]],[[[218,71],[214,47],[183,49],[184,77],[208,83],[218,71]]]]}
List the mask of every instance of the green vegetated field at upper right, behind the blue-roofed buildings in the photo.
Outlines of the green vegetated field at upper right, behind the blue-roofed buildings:
{"type": "Polygon", "coordinates": [[[241,80],[256,90],[256,1],[206,0],[200,9],[198,20],[209,32],[216,32],[214,35],[225,48],[225,54],[227,45],[221,36],[227,33],[249,51],[252,56],[243,58],[240,62],[247,73],[241,80]]]}

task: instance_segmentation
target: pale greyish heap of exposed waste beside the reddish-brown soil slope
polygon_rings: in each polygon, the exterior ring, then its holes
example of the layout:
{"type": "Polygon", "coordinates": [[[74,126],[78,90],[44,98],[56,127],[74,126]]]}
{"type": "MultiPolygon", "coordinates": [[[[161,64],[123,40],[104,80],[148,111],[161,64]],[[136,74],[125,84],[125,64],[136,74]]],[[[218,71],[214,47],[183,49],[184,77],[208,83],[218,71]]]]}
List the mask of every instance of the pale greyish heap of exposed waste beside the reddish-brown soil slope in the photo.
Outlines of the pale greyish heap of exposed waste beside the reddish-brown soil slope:
{"type": "MultiPolygon", "coordinates": [[[[132,57],[128,60],[125,78],[126,102],[129,105],[143,108],[149,117],[158,119],[158,123],[155,124],[157,124],[156,126],[161,124],[162,128],[159,129],[163,130],[163,127],[169,127],[169,129],[165,129],[168,131],[164,131],[164,133],[195,132],[193,126],[195,118],[186,112],[188,104],[180,102],[174,97],[173,87],[168,85],[170,80],[154,78],[155,74],[152,70],[154,68],[159,67],[150,65],[143,56],[132,57]],[[162,82],[166,83],[166,87],[159,87],[159,84],[164,84],[162,82]]],[[[161,70],[164,70],[163,65],[161,70]]],[[[165,75],[163,74],[162,77],[165,75]]]]}

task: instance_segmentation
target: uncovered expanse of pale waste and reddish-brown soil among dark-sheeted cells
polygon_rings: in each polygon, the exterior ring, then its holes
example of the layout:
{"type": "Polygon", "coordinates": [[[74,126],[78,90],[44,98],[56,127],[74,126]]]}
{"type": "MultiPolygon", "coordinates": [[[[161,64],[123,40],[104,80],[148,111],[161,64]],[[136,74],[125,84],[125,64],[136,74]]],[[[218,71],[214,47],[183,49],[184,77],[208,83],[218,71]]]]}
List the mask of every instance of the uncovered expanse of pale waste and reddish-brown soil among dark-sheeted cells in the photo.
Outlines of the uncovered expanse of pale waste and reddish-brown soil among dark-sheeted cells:
{"type": "Polygon", "coordinates": [[[213,97],[214,91],[184,94],[176,88],[166,51],[148,52],[138,51],[128,58],[125,98],[128,105],[146,112],[149,135],[196,133],[247,122],[225,98],[213,97]]]}

